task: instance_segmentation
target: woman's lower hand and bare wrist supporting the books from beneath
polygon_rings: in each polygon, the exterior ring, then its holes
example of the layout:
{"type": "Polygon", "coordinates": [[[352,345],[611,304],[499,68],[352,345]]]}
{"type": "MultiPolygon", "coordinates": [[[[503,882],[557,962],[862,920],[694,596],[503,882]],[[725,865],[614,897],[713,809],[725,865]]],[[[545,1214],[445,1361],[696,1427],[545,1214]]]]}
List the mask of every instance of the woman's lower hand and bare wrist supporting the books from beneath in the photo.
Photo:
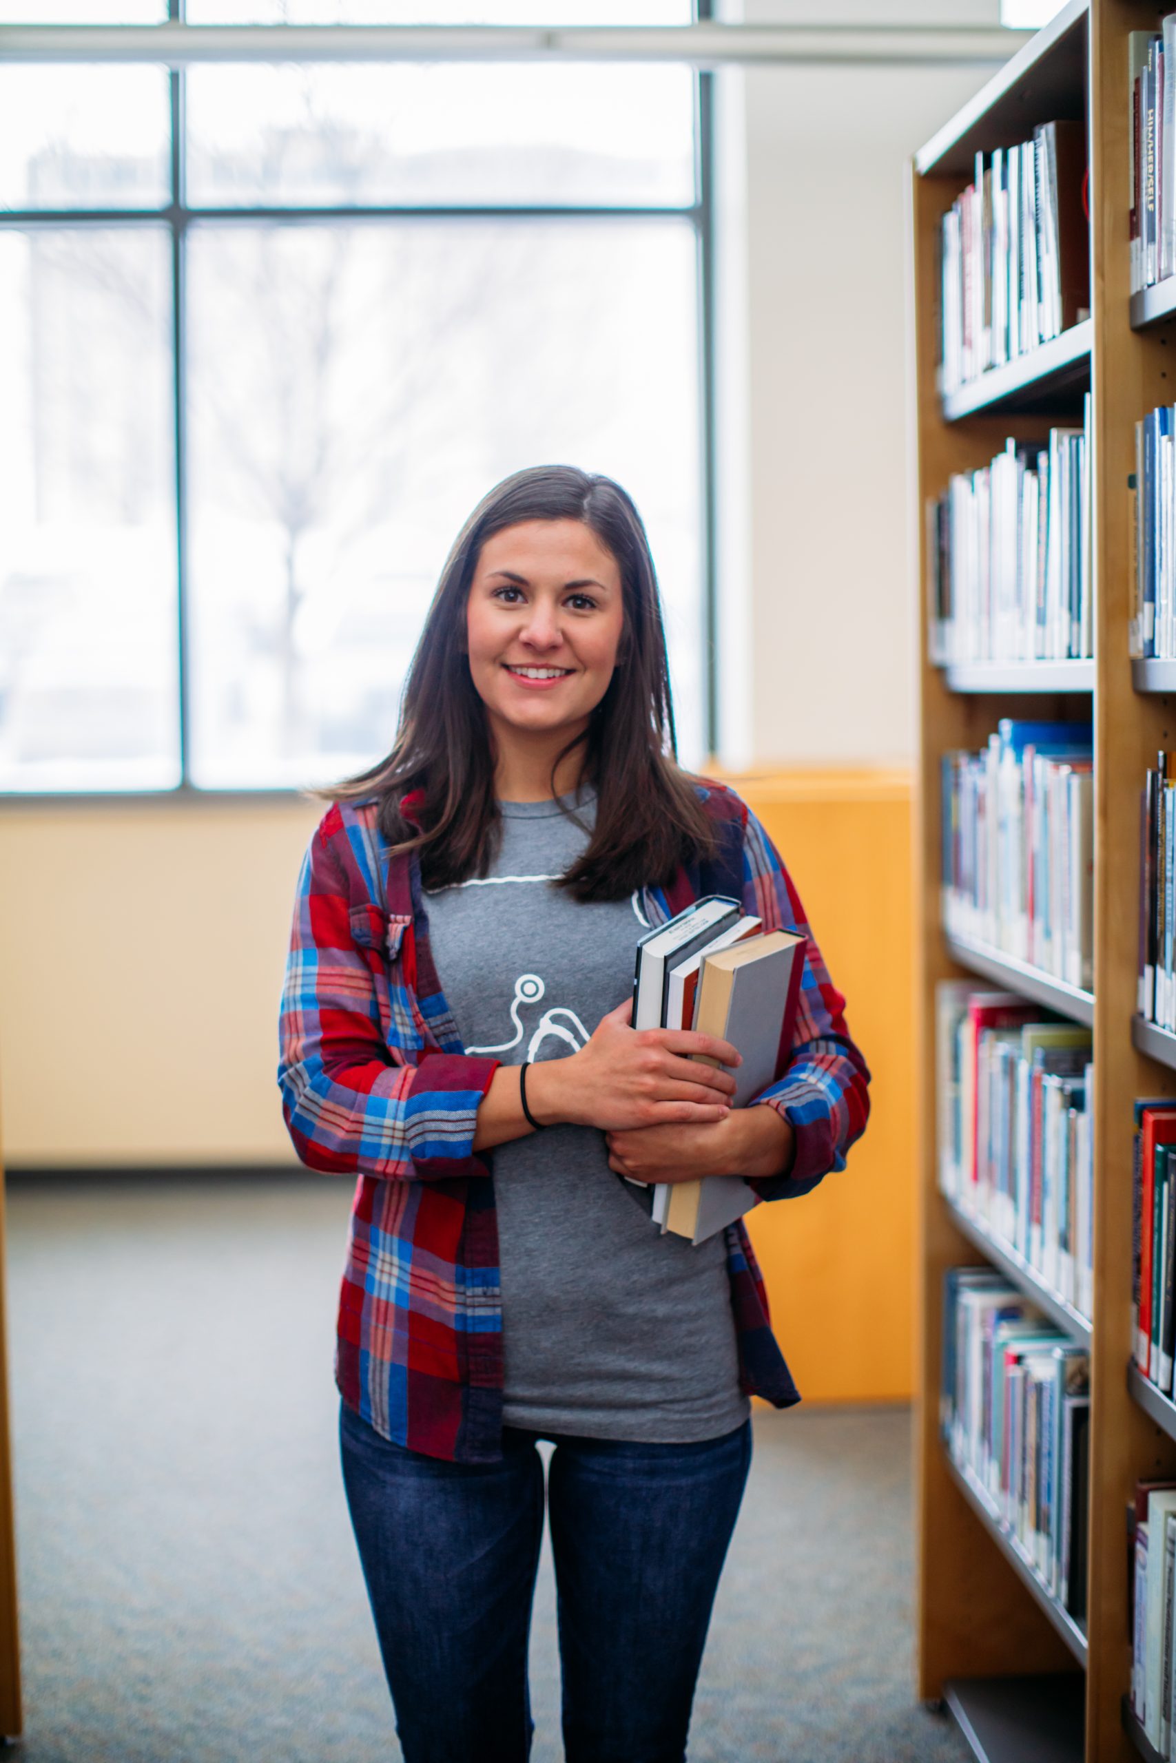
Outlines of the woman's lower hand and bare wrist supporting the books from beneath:
{"type": "Polygon", "coordinates": [[[635,1181],[778,1176],[792,1164],[793,1134],[774,1107],[733,1109],[712,1125],[607,1132],[608,1167],[635,1181]]]}

